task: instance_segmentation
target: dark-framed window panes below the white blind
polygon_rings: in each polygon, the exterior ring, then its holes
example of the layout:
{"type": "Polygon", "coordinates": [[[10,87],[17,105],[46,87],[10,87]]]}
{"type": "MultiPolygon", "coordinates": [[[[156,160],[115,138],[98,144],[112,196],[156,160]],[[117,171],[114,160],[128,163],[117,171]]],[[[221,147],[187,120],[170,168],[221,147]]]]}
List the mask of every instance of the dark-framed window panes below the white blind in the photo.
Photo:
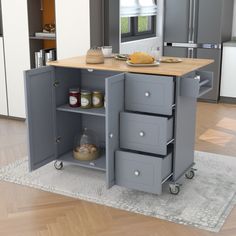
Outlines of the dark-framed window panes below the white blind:
{"type": "Polygon", "coordinates": [[[133,41],[156,35],[156,16],[121,17],[121,41],[133,41]]]}

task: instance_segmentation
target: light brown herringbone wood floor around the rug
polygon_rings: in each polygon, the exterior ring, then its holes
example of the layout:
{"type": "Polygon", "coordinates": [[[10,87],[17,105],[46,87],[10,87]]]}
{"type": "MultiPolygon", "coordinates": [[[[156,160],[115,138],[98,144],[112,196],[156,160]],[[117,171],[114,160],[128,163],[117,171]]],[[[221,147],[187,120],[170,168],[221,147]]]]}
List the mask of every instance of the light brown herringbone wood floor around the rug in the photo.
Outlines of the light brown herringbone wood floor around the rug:
{"type": "MultiPolygon", "coordinates": [[[[236,106],[199,103],[196,149],[236,156],[236,106]]],[[[0,166],[26,156],[24,122],[0,119],[0,166]]],[[[209,236],[207,231],[0,182],[0,236],[209,236]]],[[[236,209],[217,236],[236,235],[236,209]]]]}

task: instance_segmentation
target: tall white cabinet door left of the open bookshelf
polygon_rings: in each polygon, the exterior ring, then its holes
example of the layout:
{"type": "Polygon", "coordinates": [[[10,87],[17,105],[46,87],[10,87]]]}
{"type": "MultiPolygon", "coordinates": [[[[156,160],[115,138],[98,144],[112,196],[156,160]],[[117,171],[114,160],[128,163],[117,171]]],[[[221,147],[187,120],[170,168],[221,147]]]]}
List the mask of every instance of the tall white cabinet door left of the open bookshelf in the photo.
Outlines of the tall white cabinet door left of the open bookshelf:
{"type": "Polygon", "coordinates": [[[9,116],[25,118],[23,71],[30,68],[27,0],[2,0],[9,116]]]}

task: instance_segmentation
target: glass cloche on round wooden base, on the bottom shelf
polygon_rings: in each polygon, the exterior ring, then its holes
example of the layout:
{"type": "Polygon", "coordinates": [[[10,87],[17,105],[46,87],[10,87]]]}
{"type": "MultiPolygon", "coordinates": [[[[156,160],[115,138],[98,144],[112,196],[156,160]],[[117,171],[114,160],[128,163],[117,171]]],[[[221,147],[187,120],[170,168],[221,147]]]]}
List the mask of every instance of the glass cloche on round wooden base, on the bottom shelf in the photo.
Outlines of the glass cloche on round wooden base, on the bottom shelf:
{"type": "Polygon", "coordinates": [[[95,132],[84,128],[82,135],[76,136],[73,155],[80,161],[92,161],[99,158],[100,148],[95,132]]]}

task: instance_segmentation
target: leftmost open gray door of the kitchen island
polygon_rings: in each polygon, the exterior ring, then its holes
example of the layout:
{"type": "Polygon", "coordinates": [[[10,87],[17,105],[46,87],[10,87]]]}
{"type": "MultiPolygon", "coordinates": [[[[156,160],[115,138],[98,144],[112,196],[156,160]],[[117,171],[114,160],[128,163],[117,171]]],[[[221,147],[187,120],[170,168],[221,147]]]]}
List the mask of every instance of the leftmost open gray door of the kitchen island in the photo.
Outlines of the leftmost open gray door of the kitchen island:
{"type": "Polygon", "coordinates": [[[35,170],[55,159],[54,68],[25,72],[29,168],[35,170]]]}

